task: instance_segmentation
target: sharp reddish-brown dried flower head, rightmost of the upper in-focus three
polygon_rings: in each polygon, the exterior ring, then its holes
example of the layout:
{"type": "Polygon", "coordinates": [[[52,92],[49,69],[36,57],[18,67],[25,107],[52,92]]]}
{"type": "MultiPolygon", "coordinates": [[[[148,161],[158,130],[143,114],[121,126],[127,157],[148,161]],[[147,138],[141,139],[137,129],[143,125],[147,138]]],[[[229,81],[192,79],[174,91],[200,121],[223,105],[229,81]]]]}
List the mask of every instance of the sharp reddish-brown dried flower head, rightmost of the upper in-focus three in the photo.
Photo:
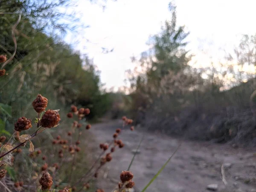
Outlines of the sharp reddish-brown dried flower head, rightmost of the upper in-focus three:
{"type": "Polygon", "coordinates": [[[42,127],[51,128],[55,125],[58,125],[58,122],[61,120],[58,111],[49,109],[44,113],[41,119],[42,127]]]}

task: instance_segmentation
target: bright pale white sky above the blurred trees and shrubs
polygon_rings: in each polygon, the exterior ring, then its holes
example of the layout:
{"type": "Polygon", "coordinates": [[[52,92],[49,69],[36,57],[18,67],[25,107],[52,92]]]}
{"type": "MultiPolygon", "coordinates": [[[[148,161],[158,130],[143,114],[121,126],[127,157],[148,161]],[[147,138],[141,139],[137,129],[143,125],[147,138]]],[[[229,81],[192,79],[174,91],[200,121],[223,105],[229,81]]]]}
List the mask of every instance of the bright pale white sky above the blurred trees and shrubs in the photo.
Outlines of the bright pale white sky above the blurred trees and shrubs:
{"type": "MultiPolygon", "coordinates": [[[[78,41],[74,48],[93,58],[105,87],[117,90],[125,85],[125,70],[134,68],[131,56],[140,58],[148,49],[148,38],[171,19],[169,1],[108,0],[103,10],[100,0],[97,4],[78,0],[73,11],[90,27],[68,34],[66,41],[78,41]],[[103,53],[101,47],[113,52],[103,53]]],[[[185,25],[190,32],[187,49],[195,54],[194,66],[220,61],[238,45],[242,34],[256,34],[255,0],[176,0],[175,4],[177,25],[185,25]]]]}

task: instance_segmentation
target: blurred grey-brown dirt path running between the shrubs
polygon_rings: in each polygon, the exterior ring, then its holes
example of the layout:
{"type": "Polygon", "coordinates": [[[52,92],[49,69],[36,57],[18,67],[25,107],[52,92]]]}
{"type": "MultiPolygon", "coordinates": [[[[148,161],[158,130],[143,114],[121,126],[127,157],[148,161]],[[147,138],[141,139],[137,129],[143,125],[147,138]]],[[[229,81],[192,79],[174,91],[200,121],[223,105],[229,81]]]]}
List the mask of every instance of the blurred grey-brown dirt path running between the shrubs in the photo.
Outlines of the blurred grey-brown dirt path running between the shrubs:
{"type": "MultiPolygon", "coordinates": [[[[121,128],[121,121],[111,121],[93,125],[98,143],[110,142],[116,128],[121,128]]],[[[120,139],[125,147],[113,153],[113,160],[104,168],[103,177],[99,178],[98,187],[111,192],[119,174],[127,170],[143,132],[125,128],[120,139]],[[108,171],[109,170],[109,171],[108,171]]],[[[172,155],[180,144],[179,139],[158,134],[145,133],[140,146],[140,154],[131,166],[134,174],[136,191],[140,191],[157,173],[160,167],[172,155]]],[[[256,156],[252,152],[229,145],[217,145],[207,142],[183,141],[175,156],[147,189],[147,192],[207,192],[207,185],[218,184],[221,192],[256,192],[256,156]],[[222,182],[221,165],[227,186],[222,182]]]]}

